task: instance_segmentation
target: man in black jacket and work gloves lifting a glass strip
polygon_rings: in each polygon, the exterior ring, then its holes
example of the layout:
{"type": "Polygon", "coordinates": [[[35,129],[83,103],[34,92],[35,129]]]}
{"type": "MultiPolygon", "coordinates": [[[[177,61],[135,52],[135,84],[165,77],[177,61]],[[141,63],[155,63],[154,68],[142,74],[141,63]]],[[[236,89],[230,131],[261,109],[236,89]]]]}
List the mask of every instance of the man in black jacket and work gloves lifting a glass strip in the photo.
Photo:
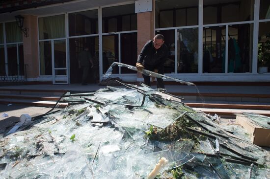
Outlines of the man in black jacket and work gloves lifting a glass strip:
{"type": "MultiPolygon", "coordinates": [[[[142,48],[136,63],[137,70],[147,69],[156,73],[164,73],[164,63],[168,57],[168,47],[164,44],[164,36],[158,34],[142,48]]],[[[150,76],[142,74],[144,84],[150,85],[150,76]]],[[[165,88],[163,79],[157,78],[157,88],[165,88]]]]}

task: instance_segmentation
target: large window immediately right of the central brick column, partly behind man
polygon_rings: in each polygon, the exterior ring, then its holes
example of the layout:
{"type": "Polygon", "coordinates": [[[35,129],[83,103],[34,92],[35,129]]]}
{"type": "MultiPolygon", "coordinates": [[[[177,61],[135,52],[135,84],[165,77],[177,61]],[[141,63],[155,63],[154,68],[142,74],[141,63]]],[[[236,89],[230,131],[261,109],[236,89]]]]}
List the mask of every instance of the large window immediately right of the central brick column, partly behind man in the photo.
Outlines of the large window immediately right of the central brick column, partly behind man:
{"type": "Polygon", "coordinates": [[[169,49],[164,73],[198,72],[198,3],[198,0],[156,0],[156,34],[164,36],[169,49]]]}

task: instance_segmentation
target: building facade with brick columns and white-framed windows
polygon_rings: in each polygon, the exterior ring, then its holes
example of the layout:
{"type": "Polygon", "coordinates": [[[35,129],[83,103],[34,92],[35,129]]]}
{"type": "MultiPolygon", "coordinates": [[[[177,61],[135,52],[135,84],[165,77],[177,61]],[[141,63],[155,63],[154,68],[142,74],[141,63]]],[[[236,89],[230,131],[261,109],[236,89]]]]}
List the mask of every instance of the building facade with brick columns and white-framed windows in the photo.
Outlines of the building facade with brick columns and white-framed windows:
{"type": "MultiPolygon", "coordinates": [[[[143,45],[163,34],[165,75],[192,82],[270,82],[269,0],[0,1],[0,77],[81,83],[78,57],[93,57],[88,83],[113,62],[135,65],[143,45]],[[24,17],[19,28],[15,16],[24,17]],[[27,66],[26,66],[27,65],[27,66]]],[[[114,67],[112,77],[142,81],[114,67]]]]}

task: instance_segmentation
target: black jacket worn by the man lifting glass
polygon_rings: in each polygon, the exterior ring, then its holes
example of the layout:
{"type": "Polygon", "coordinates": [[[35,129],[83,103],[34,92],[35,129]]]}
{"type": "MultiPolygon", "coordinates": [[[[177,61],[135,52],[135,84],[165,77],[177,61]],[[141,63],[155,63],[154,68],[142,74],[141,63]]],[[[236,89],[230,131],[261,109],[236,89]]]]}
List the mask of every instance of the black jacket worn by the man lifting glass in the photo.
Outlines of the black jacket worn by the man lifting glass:
{"type": "Polygon", "coordinates": [[[159,49],[156,49],[153,40],[148,41],[142,48],[137,62],[143,65],[163,66],[169,55],[167,45],[163,44],[159,49]]]}

